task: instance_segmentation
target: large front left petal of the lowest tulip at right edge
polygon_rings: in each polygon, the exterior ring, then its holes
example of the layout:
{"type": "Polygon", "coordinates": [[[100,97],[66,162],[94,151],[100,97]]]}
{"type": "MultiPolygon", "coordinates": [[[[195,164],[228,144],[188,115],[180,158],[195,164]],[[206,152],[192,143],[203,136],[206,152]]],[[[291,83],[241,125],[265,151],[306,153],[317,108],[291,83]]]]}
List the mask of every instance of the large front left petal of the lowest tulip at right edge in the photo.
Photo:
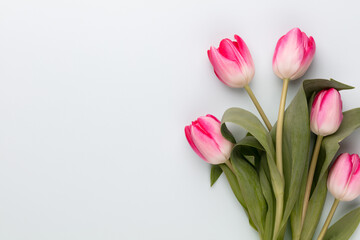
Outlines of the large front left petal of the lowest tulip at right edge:
{"type": "Polygon", "coordinates": [[[350,154],[343,153],[331,167],[327,180],[328,189],[336,199],[341,200],[343,198],[351,172],[352,161],[350,154]]]}

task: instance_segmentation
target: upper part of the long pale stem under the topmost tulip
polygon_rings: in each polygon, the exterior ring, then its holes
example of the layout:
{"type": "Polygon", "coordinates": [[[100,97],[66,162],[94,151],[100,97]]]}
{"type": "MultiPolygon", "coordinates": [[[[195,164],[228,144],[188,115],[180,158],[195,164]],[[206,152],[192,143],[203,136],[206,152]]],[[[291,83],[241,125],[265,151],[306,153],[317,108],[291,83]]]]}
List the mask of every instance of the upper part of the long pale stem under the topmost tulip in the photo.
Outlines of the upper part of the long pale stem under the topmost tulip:
{"type": "Polygon", "coordinates": [[[289,79],[285,78],[283,82],[283,89],[281,92],[280,106],[279,106],[279,115],[276,128],[276,165],[280,172],[281,177],[284,177],[283,173],[283,163],[282,163],[282,132],[284,124],[284,111],[285,111],[285,102],[286,94],[289,86],[289,79]]]}

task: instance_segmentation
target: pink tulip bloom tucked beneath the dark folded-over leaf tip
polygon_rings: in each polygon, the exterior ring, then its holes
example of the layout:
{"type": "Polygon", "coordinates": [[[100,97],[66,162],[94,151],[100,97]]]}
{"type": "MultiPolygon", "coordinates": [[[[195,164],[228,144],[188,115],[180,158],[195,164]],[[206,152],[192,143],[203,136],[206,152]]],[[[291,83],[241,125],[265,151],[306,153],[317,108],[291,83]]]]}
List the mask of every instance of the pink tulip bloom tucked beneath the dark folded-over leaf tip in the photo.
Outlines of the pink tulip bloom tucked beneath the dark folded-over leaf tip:
{"type": "Polygon", "coordinates": [[[331,135],[339,129],[342,119],[340,93],[334,88],[320,91],[311,107],[311,131],[321,136],[331,135]]]}

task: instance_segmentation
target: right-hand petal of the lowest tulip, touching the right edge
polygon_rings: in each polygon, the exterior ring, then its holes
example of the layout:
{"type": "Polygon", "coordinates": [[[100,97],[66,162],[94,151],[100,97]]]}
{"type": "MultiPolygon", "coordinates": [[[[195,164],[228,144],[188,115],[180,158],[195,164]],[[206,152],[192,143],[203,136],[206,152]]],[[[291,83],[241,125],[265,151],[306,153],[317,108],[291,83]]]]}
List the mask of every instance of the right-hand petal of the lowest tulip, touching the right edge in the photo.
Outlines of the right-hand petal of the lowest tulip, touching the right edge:
{"type": "Polygon", "coordinates": [[[353,163],[353,172],[342,201],[352,201],[360,195],[360,158],[357,154],[352,154],[351,159],[353,163]]]}

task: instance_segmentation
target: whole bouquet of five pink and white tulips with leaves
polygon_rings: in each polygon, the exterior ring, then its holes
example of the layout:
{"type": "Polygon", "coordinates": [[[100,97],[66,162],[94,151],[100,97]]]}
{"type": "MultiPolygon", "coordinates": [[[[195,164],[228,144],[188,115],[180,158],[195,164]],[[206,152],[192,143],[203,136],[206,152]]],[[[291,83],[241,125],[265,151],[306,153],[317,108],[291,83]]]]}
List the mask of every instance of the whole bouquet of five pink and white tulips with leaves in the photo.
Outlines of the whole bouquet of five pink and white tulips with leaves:
{"type": "Polygon", "coordinates": [[[333,79],[304,80],[285,110],[288,84],[304,75],[315,54],[315,41],[294,28],[276,45],[273,70],[283,80],[277,122],[272,125],[249,83],[254,63],[245,42],[224,39],[208,51],[216,76],[233,88],[245,88],[265,124],[251,112],[230,108],[219,121],[199,117],[185,127],[192,149],[212,164],[211,185],[222,173],[260,239],[313,239],[327,190],[334,203],[317,239],[349,239],[360,222],[360,207],[330,225],[341,201],[360,195],[360,158],[340,154],[339,143],[360,126],[360,108],[342,112],[339,91],[353,87],[333,79]],[[226,123],[245,129],[236,140],[226,123]],[[311,134],[312,132],[312,134],[311,134]],[[312,144],[314,143],[314,144],[312,144]]]}

